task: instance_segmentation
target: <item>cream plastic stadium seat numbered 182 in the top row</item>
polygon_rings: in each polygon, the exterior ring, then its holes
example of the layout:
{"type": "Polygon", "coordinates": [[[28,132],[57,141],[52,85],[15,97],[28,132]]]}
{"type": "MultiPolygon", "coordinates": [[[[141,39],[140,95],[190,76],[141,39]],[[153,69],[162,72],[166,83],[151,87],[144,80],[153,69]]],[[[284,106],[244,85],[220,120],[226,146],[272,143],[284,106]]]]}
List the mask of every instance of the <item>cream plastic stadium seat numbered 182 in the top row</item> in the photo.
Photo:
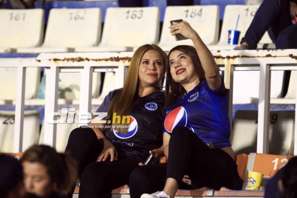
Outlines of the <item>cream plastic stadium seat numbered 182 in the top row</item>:
{"type": "Polygon", "coordinates": [[[96,46],[100,34],[100,8],[51,9],[42,47],[21,48],[17,52],[70,52],[75,47],[96,46]]]}

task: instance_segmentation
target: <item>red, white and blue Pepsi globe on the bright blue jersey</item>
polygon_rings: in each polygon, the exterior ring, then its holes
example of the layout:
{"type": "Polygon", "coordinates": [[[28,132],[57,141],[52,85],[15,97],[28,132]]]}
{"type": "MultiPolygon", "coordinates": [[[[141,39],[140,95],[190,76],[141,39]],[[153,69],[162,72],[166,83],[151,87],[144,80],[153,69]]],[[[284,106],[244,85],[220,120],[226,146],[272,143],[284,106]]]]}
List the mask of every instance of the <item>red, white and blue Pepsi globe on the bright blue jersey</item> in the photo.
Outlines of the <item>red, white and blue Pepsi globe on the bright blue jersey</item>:
{"type": "Polygon", "coordinates": [[[187,111],[184,107],[177,107],[167,114],[164,127],[166,131],[172,132],[175,126],[187,126],[187,111]]]}

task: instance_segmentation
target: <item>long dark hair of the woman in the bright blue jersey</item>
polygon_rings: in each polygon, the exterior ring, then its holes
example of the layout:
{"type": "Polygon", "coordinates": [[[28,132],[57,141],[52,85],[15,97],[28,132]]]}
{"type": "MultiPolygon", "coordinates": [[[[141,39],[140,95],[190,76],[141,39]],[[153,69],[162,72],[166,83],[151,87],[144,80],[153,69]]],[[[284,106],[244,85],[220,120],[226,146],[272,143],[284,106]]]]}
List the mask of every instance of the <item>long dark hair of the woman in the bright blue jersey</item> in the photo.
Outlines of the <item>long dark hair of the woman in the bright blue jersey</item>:
{"type": "Polygon", "coordinates": [[[181,51],[181,52],[187,54],[188,56],[190,56],[190,58],[193,61],[193,65],[195,67],[195,71],[198,74],[200,82],[205,80],[204,70],[202,68],[202,65],[201,65],[201,62],[200,62],[200,59],[198,57],[195,47],[192,47],[189,45],[178,45],[176,47],[173,47],[170,50],[170,52],[168,53],[166,69],[165,69],[165,71],[166,71],[165,107],[167,107],[170,104],[174,104],[177,101],[178,97],[186,92],[186,90],[180,83],[174,82],[174,80],[171,76],[171,73],[170,73],[169,56],[170,56],[171,52],[173,52],[175,50],[181,51]]]}

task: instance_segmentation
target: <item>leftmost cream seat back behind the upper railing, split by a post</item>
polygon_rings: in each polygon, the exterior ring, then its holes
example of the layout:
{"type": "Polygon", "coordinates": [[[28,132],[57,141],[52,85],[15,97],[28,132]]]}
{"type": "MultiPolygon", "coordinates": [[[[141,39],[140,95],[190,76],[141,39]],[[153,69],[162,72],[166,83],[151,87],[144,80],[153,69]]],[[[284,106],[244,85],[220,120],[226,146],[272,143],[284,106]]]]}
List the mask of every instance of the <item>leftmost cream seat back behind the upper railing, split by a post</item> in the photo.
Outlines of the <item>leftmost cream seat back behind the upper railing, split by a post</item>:
{"type": "MultiPolygon", "coordinates": [[[[27,67],[25,99],[34,98],[40,82],[40,68],[27,67]]],[[[0,68],[0,99],[15,100],[17,89],[17,68],[0,68]]]]}

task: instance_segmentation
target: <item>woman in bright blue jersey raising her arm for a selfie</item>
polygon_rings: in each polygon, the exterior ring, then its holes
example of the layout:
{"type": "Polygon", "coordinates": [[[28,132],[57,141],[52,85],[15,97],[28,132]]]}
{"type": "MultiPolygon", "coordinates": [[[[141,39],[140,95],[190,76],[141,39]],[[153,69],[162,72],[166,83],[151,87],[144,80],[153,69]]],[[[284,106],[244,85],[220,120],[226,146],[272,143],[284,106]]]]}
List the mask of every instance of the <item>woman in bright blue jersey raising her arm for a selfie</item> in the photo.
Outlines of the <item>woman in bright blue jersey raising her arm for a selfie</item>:
{"type": "Polygon", "coordinates": [[[168,162],[136,168],[130,177],[130,195],[173,198],[178,188],[241,189],[229,141],[228,96],[219,68],[187,22],[170,29],[172,35],[192,39],[195,48],[176,46],[168,55],[163,127],[168,162]]]}

